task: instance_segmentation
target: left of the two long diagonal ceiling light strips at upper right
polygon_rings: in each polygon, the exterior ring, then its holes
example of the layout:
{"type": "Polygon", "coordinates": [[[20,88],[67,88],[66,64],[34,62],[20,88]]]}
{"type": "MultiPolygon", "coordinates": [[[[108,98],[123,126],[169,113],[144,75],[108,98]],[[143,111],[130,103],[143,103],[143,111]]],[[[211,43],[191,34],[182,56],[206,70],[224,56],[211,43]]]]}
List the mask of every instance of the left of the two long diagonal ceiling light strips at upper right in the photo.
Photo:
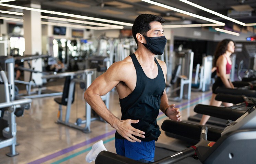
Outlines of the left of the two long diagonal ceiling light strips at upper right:
{"type": "Polygon", "coordinates": [[[196,18],[199,18],[199,19],[207,20],[207,21],[209,21],[209,22],[216,23],[216,24],[219,24],[219,25],[222,25],[222,26],[225,25],[224,23],[219,22],[219,21],[217,21],[217,20],[213,20],[213,19],[206,18],[206,17],[200,16],[200,15],[196,15],[196,14],[193,14],[193,13],[189,13],[189,12],[186,12],[186,11],[184,11],[184,10],[180,10],[180,9],[177,9],[177,8],[173,8],[173,7],[171,7],[171,6],[167,6],[167,5],[162,4],[162,3],[158,3],[158,2],[154,2],[154,1],[150,1],[150,0],[141,0],[141,1],[144,1],[144,2],[147,2],[147,3],[151,3],[151,4],[154,4],[154,5],[158,5],[158,6],[161,6],[161,7],[163,7],[163,8],[170,9],[170,10],[173,10],[173,11],[176,11],[176,12],[179,12],[179,13],[183,13],[183,14],[186,14],[186,15],[190,15],[190,16],[193,16],[193,17],[196,17],[196,18]]]}

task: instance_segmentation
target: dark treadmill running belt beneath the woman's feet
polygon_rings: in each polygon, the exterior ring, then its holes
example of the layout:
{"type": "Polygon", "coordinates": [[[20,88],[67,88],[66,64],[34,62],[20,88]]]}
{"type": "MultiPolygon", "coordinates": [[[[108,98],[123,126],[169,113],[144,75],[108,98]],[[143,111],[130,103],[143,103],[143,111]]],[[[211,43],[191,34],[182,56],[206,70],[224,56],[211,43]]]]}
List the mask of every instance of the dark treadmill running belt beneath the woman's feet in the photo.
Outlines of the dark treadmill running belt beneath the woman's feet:
{"type": "MultiPolygon", "coordinates": [[[[196,114],[194,116],[190,116],[188,118],[189,121],[196,121],[196,122],[200,122],[202,118],[202,114],[196,114]]],[[[217,126],[222,126],[225,127],[226,126],[226,121],[224,119],[220,119],[220,118],[216,118],[216,117],[210,117],[210,119],[207,121],[207,124],[212,124],[212,125],[217,125],[217,126]]]]}

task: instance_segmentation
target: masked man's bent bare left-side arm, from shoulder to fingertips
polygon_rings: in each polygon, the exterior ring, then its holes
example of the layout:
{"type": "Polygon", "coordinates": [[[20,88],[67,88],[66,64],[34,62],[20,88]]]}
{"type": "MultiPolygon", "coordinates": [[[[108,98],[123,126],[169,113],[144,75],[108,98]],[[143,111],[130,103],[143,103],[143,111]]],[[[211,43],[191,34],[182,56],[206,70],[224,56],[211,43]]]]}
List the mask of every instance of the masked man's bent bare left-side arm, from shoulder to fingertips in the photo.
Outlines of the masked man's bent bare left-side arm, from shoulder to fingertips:
{"type": "Polygon", "coordinates": [[[123,136],[128,141],[141,142],[141,140],[132,135],[144,138],[145,136],[142,134],[145,133],[131,126],[131,123],[138,123],[139,120],[128,119],[121,121],[107,109],[106,105],[101,99],[102,95],[107,94],[120,81],[125,81],[124,79],[126,79],[126,71],[129,71],[129,67],[127,67],[127,64],[124,61],[114,63],[105,73],[96,78],[87,88],[84,93],[84,99],[102,119],[117,130],[118,134],[123,136]]]}

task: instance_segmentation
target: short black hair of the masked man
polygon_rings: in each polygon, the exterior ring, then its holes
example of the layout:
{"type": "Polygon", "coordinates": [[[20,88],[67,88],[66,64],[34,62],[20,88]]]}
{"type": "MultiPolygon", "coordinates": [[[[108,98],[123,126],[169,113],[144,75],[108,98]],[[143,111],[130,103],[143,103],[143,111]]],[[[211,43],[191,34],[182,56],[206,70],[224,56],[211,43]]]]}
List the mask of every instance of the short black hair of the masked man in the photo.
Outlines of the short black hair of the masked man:
{"type": "Polygon", "coordinates": [[[147,35],[147,32],[151,29],[151,22],[160,22],[161,24],[165,22],[165,20],[161,16],[153,15],[153,14],[141,14],[139,15],[133,23],[132,26],[132,36],[138,44],[138,40],[136,38],[137,33],[141,33],[142,35],[147,35]]]}

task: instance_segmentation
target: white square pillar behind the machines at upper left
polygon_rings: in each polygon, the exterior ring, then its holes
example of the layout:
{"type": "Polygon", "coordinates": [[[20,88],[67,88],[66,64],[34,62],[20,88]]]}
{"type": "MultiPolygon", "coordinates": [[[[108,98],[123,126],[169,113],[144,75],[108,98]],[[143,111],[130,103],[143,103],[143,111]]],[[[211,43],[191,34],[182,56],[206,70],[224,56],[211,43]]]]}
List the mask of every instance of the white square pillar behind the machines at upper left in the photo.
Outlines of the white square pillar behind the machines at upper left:
{"type": "MultiPolygon", "coordinates": [[[[40,9],[41,5],[37,1],[31,1],[27,7],[40,9]]],[[[25,38],[25,52],[24,55],[42,55],[42,25],[40,12],[24,10],[24,38],[25,38]]],[[[42,58],[32,60],[30,62],[32,68],[34,67],[37,71],[42,71],[42,58]]],[[[28,65],[24,64],[24,67],[28,65]]],[[[32,80],[35,81],[37,85],[42,85],[42,73],[32,73],[32,80]]],[[[29,81],[30,72],[24,72],[24,80],[29,81]]]]}

